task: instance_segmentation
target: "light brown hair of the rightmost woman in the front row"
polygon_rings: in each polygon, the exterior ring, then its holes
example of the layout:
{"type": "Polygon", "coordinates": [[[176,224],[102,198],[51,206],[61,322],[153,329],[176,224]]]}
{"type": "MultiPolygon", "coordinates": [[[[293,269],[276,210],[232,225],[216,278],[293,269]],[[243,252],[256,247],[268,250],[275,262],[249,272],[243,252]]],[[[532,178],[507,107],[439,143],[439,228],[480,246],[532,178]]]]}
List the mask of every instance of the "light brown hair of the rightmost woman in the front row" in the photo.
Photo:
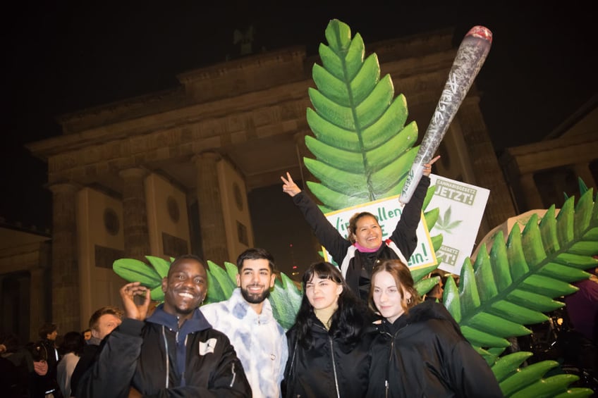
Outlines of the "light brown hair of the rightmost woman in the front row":
{"type": "Polygon", "coordinates": [[[382,271],[386,271],[394,278],[398,292],[401,294],[401,306],[405,313],[409,313],[411,307],[422,302],[420,294],[415,290],[415,283],[413,282],[413,276],[411,276],[409,267],[405,266],[401,260],[382,260],[380,263],[377,263],[372,270],[372,285],[370,286],[370,294],[367,300],[372,311],[378,311],[376,303],[374,303],[374,277],[377,273],[381,273],[382,271]],[[405,299],[405,292],[411,294],[409,301],[405,299]]]}

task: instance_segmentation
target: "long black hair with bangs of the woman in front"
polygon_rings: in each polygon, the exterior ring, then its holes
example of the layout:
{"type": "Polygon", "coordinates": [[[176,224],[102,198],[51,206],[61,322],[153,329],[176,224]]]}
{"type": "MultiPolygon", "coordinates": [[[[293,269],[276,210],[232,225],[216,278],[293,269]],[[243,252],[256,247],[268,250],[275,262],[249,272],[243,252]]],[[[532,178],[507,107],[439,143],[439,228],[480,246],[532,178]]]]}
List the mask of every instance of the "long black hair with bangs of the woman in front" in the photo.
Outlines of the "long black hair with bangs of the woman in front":
{"type": "Polygon", "coordinates": [[[328,333],[334,339],[341,340],[345,344],[354,344],[358,341],[367,321],[370,320],[370,311],[350,290],[338,267],[325,262],[313,263],[303,274],[303,299],[295,320],[299,344],[305,349],[311,349],[314,346],[312,336],[312,325],[315,319],[314,308],[305,295],[305,286],[316,275],[318,278],[329,279],[343,286],[343,292],[338,296],[338,308],[330,320],[328,333]]]}

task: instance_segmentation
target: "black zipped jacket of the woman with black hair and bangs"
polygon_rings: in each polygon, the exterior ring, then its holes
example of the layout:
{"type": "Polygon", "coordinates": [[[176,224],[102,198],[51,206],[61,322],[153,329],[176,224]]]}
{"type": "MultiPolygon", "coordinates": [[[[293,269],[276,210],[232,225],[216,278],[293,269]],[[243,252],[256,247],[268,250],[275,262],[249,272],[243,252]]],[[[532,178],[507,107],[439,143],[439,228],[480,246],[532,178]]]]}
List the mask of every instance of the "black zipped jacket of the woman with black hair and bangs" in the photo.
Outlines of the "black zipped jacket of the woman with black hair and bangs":
{"type": "Polygon", "coordinates": [[[306,349],[297,341],[296,325],[286,333],[288,361],[283,397],[365,397],[371,361],[369,349],[375,331],[364,330],[361,339],[348,346],[329,335],[314,314],[311,316],[314,347],[306,349]]]}

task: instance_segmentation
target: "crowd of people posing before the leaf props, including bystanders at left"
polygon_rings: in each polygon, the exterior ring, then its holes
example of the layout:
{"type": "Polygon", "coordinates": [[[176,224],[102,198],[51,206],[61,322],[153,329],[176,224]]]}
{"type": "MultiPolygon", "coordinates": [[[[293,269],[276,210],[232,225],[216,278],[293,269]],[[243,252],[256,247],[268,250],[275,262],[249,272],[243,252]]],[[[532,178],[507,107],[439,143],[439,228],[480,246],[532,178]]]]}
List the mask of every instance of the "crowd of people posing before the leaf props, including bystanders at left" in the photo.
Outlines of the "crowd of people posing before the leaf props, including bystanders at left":
{"type": "Polygon", "coordinates": [[[434,161],[386,241],[371,213],[351,219],[346,240],[291,175],[282,178],[341,264],[305,271],[288,331],[268,299],[276,278],[268,251],[243,251],[236,290],[207,305],[206,263],[183,255],[162,280],[161,304],[130,282],[120,290],[122,310],[98,309],[89,330],[66,333],[58,349],[56,325],[44,325],[29,350],[28,390],[13,396],[501,397],[487,363],[442,304],[419,297],[405,265],[434,161]]]}

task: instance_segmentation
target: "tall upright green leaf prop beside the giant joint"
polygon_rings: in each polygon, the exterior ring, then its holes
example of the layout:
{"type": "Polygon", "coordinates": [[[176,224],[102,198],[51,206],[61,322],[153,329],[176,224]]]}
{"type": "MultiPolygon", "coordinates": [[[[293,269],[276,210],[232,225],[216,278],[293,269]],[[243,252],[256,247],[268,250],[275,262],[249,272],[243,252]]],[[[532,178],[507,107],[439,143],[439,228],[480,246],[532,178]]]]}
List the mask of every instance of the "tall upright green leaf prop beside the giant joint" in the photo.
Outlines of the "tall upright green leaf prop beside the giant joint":
{"type": "Polygon", "coordinates": [[[326,39],[322,66],[312,70],[317,89],[308,92],[315,138],[306,136],[305,144],[316,159],[304,158],[320,180],[307,186],[324,213],[400,194],[417,154],[417,125],[405,126],[407,102],[402,94],[394,98],[390,75],[380,78],[377,55],[364,59],[361,36],[351,39],[339,20],[330,21],[326,39]]]}

